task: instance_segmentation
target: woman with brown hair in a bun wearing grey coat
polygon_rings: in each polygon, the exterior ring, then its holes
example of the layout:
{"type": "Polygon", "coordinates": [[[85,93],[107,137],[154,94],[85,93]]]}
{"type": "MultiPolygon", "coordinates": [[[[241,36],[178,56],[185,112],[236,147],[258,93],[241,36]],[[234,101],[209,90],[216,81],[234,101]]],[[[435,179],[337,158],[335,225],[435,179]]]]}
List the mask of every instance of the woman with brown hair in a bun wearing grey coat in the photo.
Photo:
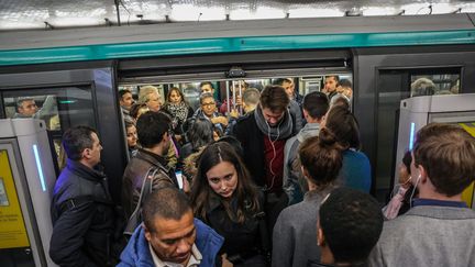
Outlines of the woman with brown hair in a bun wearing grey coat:
{"type": "Polygon", "coordinates": [[[298,155],[309,191],[302,202],[286,208],[277,219],[273,267],[307,266],[309,259],[320,262],[320,248],[316,246],[318,214],[324,198],[338,186],[343,149],[327,129],[301,143],[298,155]]]}

